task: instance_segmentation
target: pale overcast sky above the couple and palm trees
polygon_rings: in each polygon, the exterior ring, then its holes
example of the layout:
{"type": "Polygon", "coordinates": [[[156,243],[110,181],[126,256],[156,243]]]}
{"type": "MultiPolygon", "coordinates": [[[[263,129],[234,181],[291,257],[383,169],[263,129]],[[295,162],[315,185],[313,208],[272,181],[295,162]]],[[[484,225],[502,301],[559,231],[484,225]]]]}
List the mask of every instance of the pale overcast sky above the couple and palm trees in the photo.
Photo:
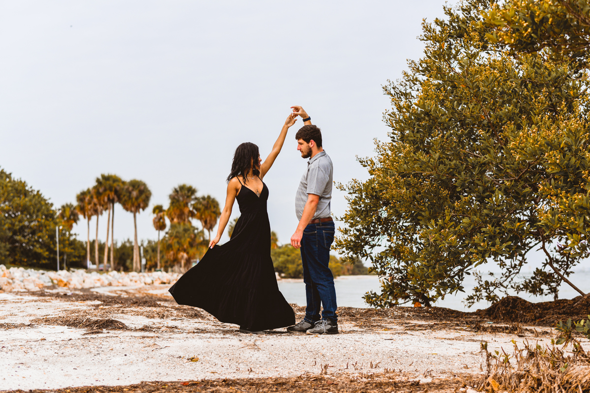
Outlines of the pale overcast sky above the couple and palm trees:
{"type": "MultiPolygon", "coordinates": [[[[153,205],[168,206],[186,183],[223,206],[235,147],[253,142],[264,159],[291,105],[302,105],[322,128],[336,183],[365,180],[356,157],[374,156],[374,140],[387,137],[382,85],[421,57],[422,19],[444,16],[444,4],[0,1],[0,167],[55,206],[76,203],[101,173],[143,180],[152,199],[138,236],[156,239],[153,205]]],[[[297,226],[301,126],[264,179],[280,243],[297,226]]],[[[332,212],[345,210],[335,188],[332,212]]],[[[99,225],[104,240],[106,214],[99,225]]],[[[85,240],[85,220],[73,232],[85,240]]],[[[120,206],[114,236],[133,239],[120,206]]]]}

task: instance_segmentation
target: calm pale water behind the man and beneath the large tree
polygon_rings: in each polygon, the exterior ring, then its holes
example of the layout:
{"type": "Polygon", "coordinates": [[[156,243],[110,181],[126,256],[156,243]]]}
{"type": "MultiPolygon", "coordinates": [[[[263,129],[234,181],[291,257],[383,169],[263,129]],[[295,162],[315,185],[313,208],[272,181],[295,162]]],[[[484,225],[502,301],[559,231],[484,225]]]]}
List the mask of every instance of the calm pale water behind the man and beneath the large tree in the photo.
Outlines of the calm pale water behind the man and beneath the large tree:
{"type": "MultiPolygon", "coordinates": [[[[590,272],[577,272],[573,273],[569,279],[574,285],[578,286],[584,292],[590,291],[590,272]]],[[[381,284],[379,283],[378,276],[344,276],[334,280],[336,286],[336,296],[338,306],[341,307],[368,307],[363,300],[363,296],[369,290],[374,290],[377,293],[381,293],[381,284]]],[[[467,294],[471,293],[471,290],[475,286],[475,280],[473,276],[468,276],[464,282],[465,292],[459,292],[457,295],[447,295],[444,300],[439,300],[435,305],[439,307],[446,307],[460,311],[475,311],[478,308],[487,308],[489,303],[480,302],[476,303],[471,309],[466,308],[463,300],[467,294]]],[[[305,300],[305,285],[303,280],[281,280],[278,282],[278,288],[283,292],[283,295],[289,303],[297,303],[297,305],[306,305],[305,300]]],[[[511,293],[516,295],[516,293],[511,293]]],[[[567,284],[563,284],[559,290],[560,299],[571,299],[578,296],[573,288],[567,284]]],[[[546,302],[553,300],[550,296],[533,297],[527,296],[525,293],[520,293],[523,299],[529,300],[529,302],[546,302]]]]}

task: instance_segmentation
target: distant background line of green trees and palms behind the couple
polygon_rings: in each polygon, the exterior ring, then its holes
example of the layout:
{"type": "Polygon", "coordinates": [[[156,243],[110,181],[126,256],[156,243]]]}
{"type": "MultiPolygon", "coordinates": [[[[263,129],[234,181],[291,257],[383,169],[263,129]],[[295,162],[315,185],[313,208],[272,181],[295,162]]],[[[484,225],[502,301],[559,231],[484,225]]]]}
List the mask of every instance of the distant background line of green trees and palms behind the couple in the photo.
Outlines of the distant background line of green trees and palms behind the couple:
{"type": "MultiPolygon", "coordinates": [[[[157,240],[138,240],[137,214],[144,212],[152,193],[141,180],[125,181],[113,174],[101,174],[95,184],[76,196],[76,204],[65,203],[59,208],[40,191],[0,168],[0,263],[55,269],[57,243],[60,242],[60,268],[87,267],[86,261],[107,269],[140,270],[139,246],[143,247],[146,269],[176,269],[191,267],[207,251],[211,230],[220,215],[219,203],[210,195],[198,196],[195,187],[180,184],[169,194],[168,207],[152,207],[153,226],[157,240]],[[117,242],[114,238],[114,206],[120,204],[134,218],[133,240],[117,242]],[[99,238],[99,219],[106,213],[106,241],[99,238]],[[96,218],[94,239],[90,239],[90,221],[96,218]],[[86,242],[71,233],[80,218],[86,219],[86,242]],[[195,226],[200,223],[200,227],[195,226]],[[163,233],[163,236],[161,236],[163,233]],[[207,234],[207,235],[206,235],[207,234]],[[67,263],[66,263],[67,257],[67,263]]],[[[239,217],[228,224],[228,236],[239,217]]],[[[271,231],[271,257],[274,268],[284,278],[301,278],[301,255],[291,245],[280,246],[278,236],[271,231]]],[[[330,256],[330,269],[335,276],[366,274],[360,260],[346,263],[330,256]]]]}

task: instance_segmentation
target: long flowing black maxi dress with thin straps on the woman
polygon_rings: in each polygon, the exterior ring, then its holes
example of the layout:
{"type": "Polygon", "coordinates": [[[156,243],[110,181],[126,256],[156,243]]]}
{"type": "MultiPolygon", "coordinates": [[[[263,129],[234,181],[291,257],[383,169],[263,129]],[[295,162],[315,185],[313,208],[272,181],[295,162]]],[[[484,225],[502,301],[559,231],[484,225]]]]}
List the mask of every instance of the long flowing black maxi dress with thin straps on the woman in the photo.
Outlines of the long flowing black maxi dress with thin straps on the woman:
{"type": "Polygon", "coordinates": [[[278,290],[270,257],[268,188],[258,196],[242,185],[240,219],[231,240],[208,249],[201,261],[172,285],[178,304],[202,308],[219,321],[262,331],[295,324],[293,308],[278,290]]]}

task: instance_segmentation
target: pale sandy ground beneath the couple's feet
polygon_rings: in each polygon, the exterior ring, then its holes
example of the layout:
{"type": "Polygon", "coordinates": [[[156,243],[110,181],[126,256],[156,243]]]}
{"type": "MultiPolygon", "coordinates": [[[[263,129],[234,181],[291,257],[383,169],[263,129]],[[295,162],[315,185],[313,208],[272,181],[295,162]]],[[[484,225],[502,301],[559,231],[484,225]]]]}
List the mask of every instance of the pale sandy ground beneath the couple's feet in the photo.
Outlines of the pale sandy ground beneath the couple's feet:
{"type": "Polygon", "coordinates": [[[0,390],[383,372],[429,382],[482,374],[481,341],[511,352],[513,339],[543,345],[552,335],[549,328],[536,328],[540,334],[477,332],[468,323],[412,321],[403,313],[379,321],[342,318],[339,335],[243,334],[204,311],[176,305],[166,289],[94,290],[106,300],[144,299],[136,304],[72,301],[63,289],[54,296],[0,293],[0,390]],[[113,319],[124,327],[108,329],[113,319]],[[71,321],[87,327],[62,326],[71,321]],[[91,327],[92,321],[107,329],[91,327]]]}

